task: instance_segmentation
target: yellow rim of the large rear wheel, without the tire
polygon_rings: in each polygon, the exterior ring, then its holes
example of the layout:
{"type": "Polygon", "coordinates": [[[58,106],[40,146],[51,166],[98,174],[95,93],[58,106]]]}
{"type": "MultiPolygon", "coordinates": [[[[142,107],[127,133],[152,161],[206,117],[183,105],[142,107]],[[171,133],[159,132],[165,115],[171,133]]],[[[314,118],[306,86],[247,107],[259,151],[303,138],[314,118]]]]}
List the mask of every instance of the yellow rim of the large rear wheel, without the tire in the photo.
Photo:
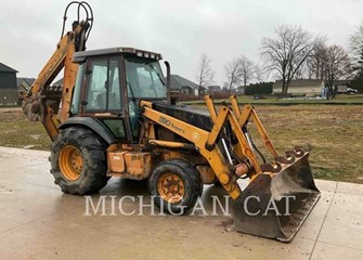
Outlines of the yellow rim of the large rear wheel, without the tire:
{"type": "Polygon", "coordinates": [[[83,156],[79,148],[66,145],[62,148],[59,157],[62,174],[68,181],[76,181],[83,169],[83,156]]]}

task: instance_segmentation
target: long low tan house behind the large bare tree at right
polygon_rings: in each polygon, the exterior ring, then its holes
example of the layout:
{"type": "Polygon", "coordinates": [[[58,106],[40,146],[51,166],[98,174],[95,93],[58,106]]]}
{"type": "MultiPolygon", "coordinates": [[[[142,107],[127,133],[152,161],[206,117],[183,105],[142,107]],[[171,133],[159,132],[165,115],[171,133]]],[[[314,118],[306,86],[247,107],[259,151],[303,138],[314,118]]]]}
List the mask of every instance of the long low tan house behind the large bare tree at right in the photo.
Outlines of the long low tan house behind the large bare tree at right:
{"type": "MultiPolygon", "coordinates": [[[[287,93],[307,96],[321,95],[325,83],[322,79],[296,79],[290,81],[287,93]]],[[[282,93],[282,80],[277,80],[272,86],[272,92],[275,94],[282,93]]]]}

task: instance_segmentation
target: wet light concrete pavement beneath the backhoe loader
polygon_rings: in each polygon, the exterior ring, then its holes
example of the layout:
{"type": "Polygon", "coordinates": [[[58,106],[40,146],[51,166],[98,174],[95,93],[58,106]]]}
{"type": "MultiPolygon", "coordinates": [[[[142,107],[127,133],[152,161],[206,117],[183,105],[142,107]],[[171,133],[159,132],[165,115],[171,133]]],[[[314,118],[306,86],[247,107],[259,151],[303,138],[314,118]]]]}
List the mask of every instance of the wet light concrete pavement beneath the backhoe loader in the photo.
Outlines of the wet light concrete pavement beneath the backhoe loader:
{"type": "MultiPolygon", "coordinates": [[[[322,198],[283,244],[237,233],[208,207],[209,216],[151,216],[146,182],[116,178],[100,193],[107,195],[104,216],[102,207],[85,216],[90,204],[61,192],[48,156],[0,147],[0,259],[363,259],[363,185],[316,180],[322,198]]],[[[210,195],[225,193],[205,186],[207,206],[210,195]]],[[[89,199],[96,207],[100,195],[89,199]]]]}

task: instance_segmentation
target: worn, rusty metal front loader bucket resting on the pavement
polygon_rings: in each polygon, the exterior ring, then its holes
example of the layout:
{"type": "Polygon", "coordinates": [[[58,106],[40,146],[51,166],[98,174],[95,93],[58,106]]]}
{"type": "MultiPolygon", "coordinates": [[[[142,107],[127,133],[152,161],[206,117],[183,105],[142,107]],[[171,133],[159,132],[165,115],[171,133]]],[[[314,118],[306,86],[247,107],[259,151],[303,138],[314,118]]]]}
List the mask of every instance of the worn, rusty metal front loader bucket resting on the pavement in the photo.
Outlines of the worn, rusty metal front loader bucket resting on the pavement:
{"type": "Polygon", "coordinates": [[[296,147],[243,191],[233,206],[237,231],[289,242],[320,198],[308,161],[309,151],[296,147]]]}

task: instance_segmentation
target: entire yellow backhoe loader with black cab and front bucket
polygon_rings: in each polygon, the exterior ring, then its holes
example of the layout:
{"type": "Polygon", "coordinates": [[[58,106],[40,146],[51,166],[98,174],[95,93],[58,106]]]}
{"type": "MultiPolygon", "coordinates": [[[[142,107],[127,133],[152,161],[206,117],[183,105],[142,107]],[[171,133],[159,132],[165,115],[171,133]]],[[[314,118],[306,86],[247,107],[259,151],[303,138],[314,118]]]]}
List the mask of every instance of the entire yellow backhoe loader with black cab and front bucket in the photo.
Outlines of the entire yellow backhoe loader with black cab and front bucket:
{"type": "Polygon", "coordinates": [[[234,199],[237,231],[282,242],[294,237],[320,197],[309,147],[278,155],[255,108],[241,107],[233,95],[218,110],[209,95],[206,110],[177,104],[170,66],[165,62],[165,79],[159,53],[86,51],[93,24],[88,3],[68,4],[64,24],[55,52],[21,96],[26,117],[41,121],[52,140],[51,173],[64,193],[96,193],[111,177],[147,179],[156,206],[186,212],[204,184],[218,182],[234,199]],[[78,20],[64,35],[72,4],[78,4],[78,20]],[[51,86],[62,68],[63,84],[51,86]],[[272,161],[256,147],[250,125],[272,161]],[[239,179],[249,179],[246,188],[239,179]]]}

